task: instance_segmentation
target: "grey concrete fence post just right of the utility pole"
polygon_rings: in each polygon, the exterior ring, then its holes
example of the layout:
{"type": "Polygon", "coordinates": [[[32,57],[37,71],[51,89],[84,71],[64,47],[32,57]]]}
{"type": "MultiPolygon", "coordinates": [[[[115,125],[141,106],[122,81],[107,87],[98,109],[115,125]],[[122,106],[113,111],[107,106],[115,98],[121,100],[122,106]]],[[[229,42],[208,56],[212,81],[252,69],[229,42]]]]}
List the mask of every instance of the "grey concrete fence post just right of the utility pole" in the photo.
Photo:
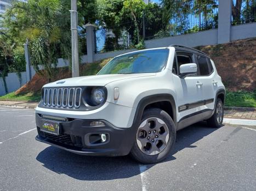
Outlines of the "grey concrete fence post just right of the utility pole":
{"type": "Polygon", "coordinates": [[[86,24],[86,45],[87,45],[87,60],[88,63],[93,62],[93,55],[95,51],[95,34],[94,29],[96,28],[95,25],[90,23],[86,24]]]}

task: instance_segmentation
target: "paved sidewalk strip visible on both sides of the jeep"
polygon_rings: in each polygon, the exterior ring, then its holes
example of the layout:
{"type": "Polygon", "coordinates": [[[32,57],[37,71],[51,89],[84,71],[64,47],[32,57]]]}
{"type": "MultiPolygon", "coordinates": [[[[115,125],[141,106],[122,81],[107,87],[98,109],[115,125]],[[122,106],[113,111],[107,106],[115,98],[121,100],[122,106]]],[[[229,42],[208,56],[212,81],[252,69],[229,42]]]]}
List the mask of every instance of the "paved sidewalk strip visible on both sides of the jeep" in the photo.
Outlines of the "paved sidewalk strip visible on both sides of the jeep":
{"type": "MultiPolygon", "coordinates": [[[[35,109],[37,105],[38,102],[0,100],[0,106],[12,108],[35,109]]],[[[224,118],[239,120],[256,120],[256,108],[225,107],[224,118]]]]}

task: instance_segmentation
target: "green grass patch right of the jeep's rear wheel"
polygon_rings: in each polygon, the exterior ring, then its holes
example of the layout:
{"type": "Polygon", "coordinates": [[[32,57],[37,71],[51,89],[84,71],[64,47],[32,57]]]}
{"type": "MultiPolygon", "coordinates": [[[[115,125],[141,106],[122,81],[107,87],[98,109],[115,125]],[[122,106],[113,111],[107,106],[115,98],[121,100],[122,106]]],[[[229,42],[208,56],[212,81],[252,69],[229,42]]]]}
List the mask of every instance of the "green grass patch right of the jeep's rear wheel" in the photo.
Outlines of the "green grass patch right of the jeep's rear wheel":
{"type": "Polygon", "coordinates": [[[226,92],[225,106],[256,108],[256,90],[226,92]]]}

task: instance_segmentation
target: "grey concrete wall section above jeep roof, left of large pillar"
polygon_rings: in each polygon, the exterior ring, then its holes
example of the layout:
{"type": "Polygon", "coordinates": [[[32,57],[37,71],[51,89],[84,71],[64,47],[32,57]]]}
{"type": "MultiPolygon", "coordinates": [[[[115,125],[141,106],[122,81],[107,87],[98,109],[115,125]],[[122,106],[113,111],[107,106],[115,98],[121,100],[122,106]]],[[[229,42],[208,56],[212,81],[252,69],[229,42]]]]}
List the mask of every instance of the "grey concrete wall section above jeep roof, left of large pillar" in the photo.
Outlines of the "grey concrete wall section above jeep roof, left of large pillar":
{"type": "Polygon", "coordinates": [[[171,44],[195,47],[195,46],[201,46],[201,45],[214,45],[217,43],[218,43],[218,29],[212,29],[209,31],[201,31],[197,33],[177,35],[174,37],[146,40],[145,46],[147,49],[150,49],[154,47],[165,47],[171,44]]]}

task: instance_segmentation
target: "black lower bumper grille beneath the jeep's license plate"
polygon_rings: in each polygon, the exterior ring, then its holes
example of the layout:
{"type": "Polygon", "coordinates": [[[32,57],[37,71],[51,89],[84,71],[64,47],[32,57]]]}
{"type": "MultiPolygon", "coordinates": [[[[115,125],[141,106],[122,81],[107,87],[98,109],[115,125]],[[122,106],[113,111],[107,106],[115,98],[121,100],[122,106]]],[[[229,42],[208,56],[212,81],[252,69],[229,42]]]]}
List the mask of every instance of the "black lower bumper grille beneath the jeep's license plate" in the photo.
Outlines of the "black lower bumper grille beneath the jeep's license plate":
{"type": "Polygon", "coordinates": [[[52,135],[45,132],[40,132],[41,136],[44,136],[47,139],[50,139],[54,142],[59,142],[61,144],[70,145],[70,146],[78,146],[82,147],[82,138],[81,136],[73,135],[73,141],[71,139],[71,135],[69,134],[62,134],[62,135],[52,135]]]}

